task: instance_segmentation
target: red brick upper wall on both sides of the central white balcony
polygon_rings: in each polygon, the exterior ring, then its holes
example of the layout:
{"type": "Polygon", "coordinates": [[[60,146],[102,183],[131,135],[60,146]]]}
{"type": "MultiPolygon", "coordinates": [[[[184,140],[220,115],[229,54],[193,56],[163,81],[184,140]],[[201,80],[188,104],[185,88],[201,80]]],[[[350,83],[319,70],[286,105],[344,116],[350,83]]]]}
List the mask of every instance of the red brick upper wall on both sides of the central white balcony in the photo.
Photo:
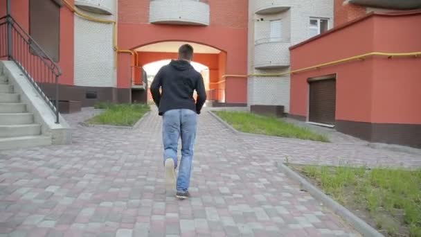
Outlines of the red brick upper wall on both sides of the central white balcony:
{"type": "MultiPolygon", "coordinates": [[[[247,28],[249,6],[245,0],[208,0],[211,26],[247,28]]],[[[128,24],[149,23],[150,0],[118,1],[118,21],[128,24]]]]}

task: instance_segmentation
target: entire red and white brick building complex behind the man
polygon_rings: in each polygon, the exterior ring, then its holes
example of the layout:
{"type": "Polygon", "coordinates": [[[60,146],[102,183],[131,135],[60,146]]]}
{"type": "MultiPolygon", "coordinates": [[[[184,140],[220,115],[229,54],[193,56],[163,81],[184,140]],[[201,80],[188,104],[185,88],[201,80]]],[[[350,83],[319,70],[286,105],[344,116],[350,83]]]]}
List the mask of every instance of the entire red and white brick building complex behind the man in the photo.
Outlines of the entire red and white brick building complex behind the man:
{"type": "Polygon", "coordinates": [[[177,58],[189,42],[214,105],[421,146],[418,0],[0,0],[0,17],[7,2],[13,21],[0,19],[0,59],[12,53],[47,103],[60,74],[67,110],[144,103],[143,67],[177,58]]]}

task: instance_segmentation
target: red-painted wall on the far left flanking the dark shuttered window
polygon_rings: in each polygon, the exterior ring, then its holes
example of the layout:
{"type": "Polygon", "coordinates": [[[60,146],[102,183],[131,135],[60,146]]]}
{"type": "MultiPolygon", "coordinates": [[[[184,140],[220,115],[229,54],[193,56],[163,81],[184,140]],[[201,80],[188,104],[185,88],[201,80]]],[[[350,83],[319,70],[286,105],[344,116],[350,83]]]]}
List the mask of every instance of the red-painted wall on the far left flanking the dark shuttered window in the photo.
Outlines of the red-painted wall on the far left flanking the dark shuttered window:
{"type": "MultiPolygon", "coordinates": [[[[29,1],[12,0],[12,17],[29,33],[29,1]]],[[[73,4],[73,0],[69,0],[73,4]]],[[[6,15],[6,0],[0,0],[0,16],[6,15]]],[[[60,62],[62,69],[60,83],[73,85],[73,58],[74,58],[74,37],[73,37],[73,12],[66,7],[60,10],[60,62]]]]}

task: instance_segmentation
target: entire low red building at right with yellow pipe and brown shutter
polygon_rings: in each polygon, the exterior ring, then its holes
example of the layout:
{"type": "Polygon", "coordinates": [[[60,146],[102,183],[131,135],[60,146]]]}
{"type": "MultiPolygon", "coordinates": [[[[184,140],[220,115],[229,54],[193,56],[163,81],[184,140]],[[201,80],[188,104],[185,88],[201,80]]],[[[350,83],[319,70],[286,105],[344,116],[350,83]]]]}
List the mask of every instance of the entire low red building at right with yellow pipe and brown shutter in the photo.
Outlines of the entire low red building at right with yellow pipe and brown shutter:
{"type": "Polygon", "coordinates": [[[290,115],[367,141],[420,148],[421,33],[415,29],[421,11],[385,13],[382,5],[370,4],[376,10],[367,10],[365,5],[350,7],[348,1],[336,3],[335,12],[341,7],[364,11],[290,48],[296,71],[290,115]]]}

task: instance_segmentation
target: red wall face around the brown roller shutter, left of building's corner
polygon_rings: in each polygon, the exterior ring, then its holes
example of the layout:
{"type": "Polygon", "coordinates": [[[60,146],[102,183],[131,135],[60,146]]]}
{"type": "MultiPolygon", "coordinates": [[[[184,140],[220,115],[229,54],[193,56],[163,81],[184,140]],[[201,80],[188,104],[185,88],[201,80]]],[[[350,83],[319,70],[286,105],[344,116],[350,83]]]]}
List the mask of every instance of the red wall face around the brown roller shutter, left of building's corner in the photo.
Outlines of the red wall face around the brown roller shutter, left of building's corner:
{"type": "MultiPolygon", "coordinates": [[[[331,33],[292,49],[292,70],[341,60],[370,52],[372,49],[373,19],[366,19],[355,26],[344,28],[341,33],[331,33]],[[358,40],[355,40],[355,35],[359,35],[358,40]]],[[[290,113],[307,116],[309,89],[307,78],[337,73],[337,91],[341,93],[337,93],[336,118],[352,121],[370,120],[370,103],[367,101],[370,100],[371,64],[371,60],[366,60],[292,74],[290,113]],[[355,91],[359,91],[359,96],[355,96],[355,91]]]]}

